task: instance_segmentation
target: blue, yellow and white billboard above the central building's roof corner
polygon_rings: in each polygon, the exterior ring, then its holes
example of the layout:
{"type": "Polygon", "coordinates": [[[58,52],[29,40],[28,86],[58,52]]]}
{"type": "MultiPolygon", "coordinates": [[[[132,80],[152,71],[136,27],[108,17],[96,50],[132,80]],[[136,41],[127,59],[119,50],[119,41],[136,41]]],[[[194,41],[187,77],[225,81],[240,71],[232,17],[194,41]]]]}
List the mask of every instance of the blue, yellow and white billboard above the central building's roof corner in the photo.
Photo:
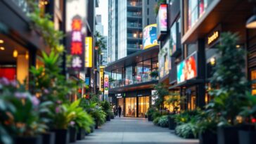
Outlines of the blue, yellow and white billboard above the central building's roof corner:
{"type": "Polygon", "coordinates": [[[158,37],[156,35],[157,25],[148,25],[143,30],[143,49],[151,48],[158,45],[158,37]]]}

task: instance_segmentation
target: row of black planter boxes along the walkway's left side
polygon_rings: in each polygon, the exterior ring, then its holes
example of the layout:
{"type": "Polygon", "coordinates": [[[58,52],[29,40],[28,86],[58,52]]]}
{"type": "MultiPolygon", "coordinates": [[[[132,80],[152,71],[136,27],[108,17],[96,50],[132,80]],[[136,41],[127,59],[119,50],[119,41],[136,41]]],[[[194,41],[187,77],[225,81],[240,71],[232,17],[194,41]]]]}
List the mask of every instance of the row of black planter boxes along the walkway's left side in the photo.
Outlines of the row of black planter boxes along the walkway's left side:
{"type": "MultiPolygon", "coordinates": [[[[91,127],[91,132],[94,131],[94,127],[91,127]]],[[[34,137],[16,137],[14,139],[15,144],[68,144],[74,143],[76,140],[82,140],[89,134],[84,129],[75,128],[71,129],[55,129],[49,133],[43,133],[40,136],[34,137]]]]}

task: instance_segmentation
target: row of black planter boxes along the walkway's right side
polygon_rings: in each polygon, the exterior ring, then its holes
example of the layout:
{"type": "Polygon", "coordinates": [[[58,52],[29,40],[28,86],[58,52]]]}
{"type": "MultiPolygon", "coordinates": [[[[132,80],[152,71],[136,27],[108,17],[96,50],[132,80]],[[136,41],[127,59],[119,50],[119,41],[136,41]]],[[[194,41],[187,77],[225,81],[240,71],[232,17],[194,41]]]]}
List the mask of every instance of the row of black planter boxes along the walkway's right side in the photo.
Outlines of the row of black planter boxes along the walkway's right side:
{"type": "MultiPolygon", "coordinates": [[[[148,121],[153,121],[148,115],[148,121]]],[[[175,130],[177,124],[168,117],[169,129],[175,130]]],[[[217,133],[205,131],[200,133],[200,144],[256,144],[256,131],[250,131],[252,126],[226,126],[219,127],[217,133]]]]}

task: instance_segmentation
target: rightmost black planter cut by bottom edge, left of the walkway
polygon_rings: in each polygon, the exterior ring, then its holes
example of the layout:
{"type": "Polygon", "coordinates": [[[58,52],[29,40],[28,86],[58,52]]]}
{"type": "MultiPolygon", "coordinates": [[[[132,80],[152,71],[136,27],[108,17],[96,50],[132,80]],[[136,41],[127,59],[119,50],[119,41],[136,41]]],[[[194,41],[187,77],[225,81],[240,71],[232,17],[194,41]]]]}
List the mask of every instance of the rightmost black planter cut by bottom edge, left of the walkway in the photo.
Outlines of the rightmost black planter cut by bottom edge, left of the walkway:
{"type": "Polygon", "coordinates": [[[54,129],[55,132],[55,144],[68,144],[70,141],[70,133],[68,129],[54,129]]]}

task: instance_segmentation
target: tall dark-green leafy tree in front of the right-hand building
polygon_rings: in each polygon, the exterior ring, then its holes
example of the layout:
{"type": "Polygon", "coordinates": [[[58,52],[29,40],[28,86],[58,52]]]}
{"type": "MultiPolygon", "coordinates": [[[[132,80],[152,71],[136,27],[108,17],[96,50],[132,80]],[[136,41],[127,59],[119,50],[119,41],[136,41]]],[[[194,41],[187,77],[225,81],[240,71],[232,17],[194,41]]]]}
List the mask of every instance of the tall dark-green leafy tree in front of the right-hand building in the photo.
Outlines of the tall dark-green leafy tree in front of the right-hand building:
{"type": "Polygon", "coordinates": [[[245,93],[249,90],[248,81],[243,72],[245,68],[245,51],[236,48],[237,34],[222,34],[218,46],[220,58],[217,59],[215,72],[211,79],[210,95],[213,100],[207,105],[221,119],[219,125],[235,124],[236,116],[245,105],[245,93]]]}

